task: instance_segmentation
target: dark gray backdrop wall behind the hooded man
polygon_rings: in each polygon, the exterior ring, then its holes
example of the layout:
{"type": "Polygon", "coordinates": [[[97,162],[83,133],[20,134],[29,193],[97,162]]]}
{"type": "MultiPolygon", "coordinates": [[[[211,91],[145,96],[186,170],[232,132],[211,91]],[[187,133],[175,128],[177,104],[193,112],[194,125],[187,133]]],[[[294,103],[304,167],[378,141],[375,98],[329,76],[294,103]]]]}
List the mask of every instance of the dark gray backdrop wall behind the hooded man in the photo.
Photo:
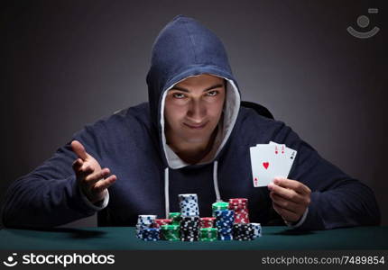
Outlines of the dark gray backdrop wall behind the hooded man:
{"type": "MultiPolygon", "coordinates": [[[[1,8],[8,184],[86,123],[147,100],[152,42],[177,14],[223,40],[244,100],[266,106],[347,174],[370,185],[388,225],[384,1],[9,1],[1,8]],[[368,8],[378,14],[367,14],[368,8]],[[359,15],[370,25],[356,25],[359,15]],[[353,26],[381,31],[366,40],[353,26]]],[[[72,226],[94,226],[95,217],[72,226]]]]}

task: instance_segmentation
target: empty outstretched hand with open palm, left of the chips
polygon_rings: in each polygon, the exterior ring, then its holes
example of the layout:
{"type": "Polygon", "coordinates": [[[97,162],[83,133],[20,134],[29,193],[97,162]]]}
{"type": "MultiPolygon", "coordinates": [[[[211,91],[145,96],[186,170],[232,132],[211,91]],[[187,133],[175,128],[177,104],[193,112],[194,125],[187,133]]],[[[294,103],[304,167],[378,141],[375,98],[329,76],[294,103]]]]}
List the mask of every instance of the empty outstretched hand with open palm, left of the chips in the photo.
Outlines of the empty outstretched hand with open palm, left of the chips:
{"type": "Polygon", "coordinates": [[[84,146],[78,140],[71,142],[71,148],[78,156],[73,162],[73,170],[81,190],[92,203],[103,200],[106,196],[107,188],[115,183],[117,177],[110,175],[109,168],[101,169],[97,160],[87,153],[84,146]],[[107,175],[110,176],[106,178],[107,175]]]}

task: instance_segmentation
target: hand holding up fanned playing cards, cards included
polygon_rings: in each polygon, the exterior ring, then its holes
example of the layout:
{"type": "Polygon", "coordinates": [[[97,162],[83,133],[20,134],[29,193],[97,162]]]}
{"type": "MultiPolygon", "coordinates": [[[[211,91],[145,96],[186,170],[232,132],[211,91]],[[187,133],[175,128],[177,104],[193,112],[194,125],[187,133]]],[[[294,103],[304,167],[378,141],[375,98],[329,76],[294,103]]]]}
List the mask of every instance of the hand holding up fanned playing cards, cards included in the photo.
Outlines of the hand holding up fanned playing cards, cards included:
{"type": "Polygon", "coordinates": [[[311,191],[299,181],[287,179],[297,151],[271,141],[250,148],[254,187],[268,186],[273,209],[288,223],[306,212],[311,191]]]}

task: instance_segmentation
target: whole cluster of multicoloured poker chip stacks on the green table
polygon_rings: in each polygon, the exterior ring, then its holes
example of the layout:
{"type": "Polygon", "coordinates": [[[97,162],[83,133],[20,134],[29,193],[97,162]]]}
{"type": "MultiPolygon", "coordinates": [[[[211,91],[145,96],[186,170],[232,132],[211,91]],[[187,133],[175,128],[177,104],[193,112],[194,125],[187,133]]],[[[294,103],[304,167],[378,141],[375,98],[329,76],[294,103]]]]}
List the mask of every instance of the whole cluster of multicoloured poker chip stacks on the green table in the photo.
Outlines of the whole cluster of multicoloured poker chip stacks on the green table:
{"type": "Polygon", "coordinates": [[[262,236],[261,224],[249,223],[245,198],[213,203],[212,217],[207,218],[199,218],[197,194],[180,194],[179,202],[180,212],[169,213],[169,219],[139,215],[136,236],[144,241],[245,241],[262,236]]]}

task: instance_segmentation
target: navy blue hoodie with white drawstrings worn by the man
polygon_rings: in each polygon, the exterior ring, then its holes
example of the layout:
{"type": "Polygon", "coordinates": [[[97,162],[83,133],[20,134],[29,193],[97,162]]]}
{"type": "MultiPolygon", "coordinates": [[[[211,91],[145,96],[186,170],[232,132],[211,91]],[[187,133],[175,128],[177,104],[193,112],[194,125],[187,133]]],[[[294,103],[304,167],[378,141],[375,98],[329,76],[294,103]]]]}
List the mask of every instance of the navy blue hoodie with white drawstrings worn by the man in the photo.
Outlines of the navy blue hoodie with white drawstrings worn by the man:
{"type": "Polygon", "coordinates": [[[296,149],[288,178],[311,189],[311,202],[300,229],[376,225],[380,212],[373,191],[346,175],[285,125],[240,107],[240,92],[226,50],[201,23],[177,16],[160,32],[152,47],[146,77],[149,103],[107,116],[75,133],[101,167],[117,176],[101,205],[81,193],[72,163],[70,142],[42,166],[14,181],[5,196],[7,227],[52,227],[98,212],[99,225],[134,226],[138,214],[165,217],[180,211],[178,194],[197,193],[200,216],[211,204],[248,198],[250,219],[263,225],[284,224],[273,211],[267,187],[254,187],[249,148],[274,141],[296,149]],[[212,157],[186,164],[166,144],[164,99],[188,76],[225,78],[226,103],[218,124],[212,157]]]}

